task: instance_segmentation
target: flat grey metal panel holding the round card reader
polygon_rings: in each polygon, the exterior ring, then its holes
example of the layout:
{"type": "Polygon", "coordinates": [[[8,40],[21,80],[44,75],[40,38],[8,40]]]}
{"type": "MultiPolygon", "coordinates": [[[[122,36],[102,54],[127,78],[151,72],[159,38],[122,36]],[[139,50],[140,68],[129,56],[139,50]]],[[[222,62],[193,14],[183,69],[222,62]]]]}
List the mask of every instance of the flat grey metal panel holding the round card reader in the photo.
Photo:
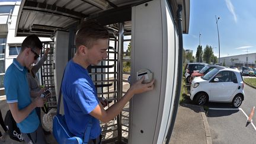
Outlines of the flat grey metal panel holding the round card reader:
{"type": "MultiPolygon", "coordinates": [[[[129,143],[153,143],[156,132],[159,107],[165,92],[161,83],[166,81],[162,75],[164,68],[163,32],[161,1],[155,0],[132,8],[132,80],[136,72],[150,69],[156,79],[153,91],[135,95],[130,105],[129,143]],[[132,118],[132,119],[131,119],[132,118]]],[[[166,58],[166,57],[165,57],[166,58]]],[[[166,59],[164,59],[166,60],[166,59]]],[[[160,111],[161,113],[161,111],[160,111]]],[[[159,129],[159,127],[158,127],[159,129]]]]}

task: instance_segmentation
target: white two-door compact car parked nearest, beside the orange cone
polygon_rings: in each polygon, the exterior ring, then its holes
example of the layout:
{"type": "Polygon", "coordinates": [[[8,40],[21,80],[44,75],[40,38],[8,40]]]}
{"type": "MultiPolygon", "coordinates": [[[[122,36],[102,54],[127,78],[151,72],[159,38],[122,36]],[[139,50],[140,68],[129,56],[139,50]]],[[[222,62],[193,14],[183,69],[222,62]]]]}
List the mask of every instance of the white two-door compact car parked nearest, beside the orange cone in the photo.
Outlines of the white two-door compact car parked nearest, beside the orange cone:
{"type": "Polygon", "coordinates": [[[244,82],[238,70],[215,68],[201,78],[196,78],[190,86],[190,99],[203,105],[207,101],[232,103],[237,108],[244,100],[244,82]]]}

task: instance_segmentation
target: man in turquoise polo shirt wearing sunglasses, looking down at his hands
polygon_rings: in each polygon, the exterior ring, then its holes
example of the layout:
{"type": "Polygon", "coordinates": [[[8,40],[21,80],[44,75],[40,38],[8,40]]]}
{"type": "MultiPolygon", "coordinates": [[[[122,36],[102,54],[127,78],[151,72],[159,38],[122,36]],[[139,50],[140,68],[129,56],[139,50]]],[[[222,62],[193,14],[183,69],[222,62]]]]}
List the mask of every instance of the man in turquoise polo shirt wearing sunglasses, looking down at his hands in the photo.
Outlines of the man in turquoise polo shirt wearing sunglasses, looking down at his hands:
{"type": "Polygon", "coordinates": [[[26,37],[21,44],[20,54],[8,67],[4,78],[9,109],[27,143],[46,143],[35,110],[36,107],[42,107],[46,101],[44,98],[40,98],[45,89],[34,93],[34,96],[37,97],[31,101],[27,82],[27,70],[32,63],[37,62],[42,47],[43,44],[36,35],[26,37]]]}

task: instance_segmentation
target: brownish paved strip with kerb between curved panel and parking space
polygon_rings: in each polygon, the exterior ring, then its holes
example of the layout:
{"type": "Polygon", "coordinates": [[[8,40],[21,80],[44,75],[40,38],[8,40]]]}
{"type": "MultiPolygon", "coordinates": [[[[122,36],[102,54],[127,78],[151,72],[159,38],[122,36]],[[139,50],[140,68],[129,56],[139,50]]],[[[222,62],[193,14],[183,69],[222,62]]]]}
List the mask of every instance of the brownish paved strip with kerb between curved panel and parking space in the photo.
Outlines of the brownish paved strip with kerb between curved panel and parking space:
{"type": "Polygon", "coordinates": [[[179,105],[170,143],[212,143],[203,107],[179,105]]]}

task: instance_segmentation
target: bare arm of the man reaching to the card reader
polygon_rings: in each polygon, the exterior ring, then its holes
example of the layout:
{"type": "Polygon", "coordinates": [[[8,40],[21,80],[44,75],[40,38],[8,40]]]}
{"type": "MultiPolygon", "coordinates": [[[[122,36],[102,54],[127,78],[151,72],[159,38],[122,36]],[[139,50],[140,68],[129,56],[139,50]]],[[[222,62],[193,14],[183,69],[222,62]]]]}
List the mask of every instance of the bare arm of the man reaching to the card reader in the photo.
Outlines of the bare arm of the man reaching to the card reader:
{"type": "Polygon", "coordinates": [[[146,91],[150,91],[153,89],[153,82],[148,84],[142,84],[144,78],[137,81],[132,87],[126,92],[126,94],[119,100],[117,103],[111,105],[110,108],[104,110],[103,105],[99,103],[94,110],[91,111],[91,116],[95,117],[96,119],[107,123],[110,120],[113,120],[121,110],[123,109],[124,105],[133,97],[135,94],[140,94],[146,91]]]}

